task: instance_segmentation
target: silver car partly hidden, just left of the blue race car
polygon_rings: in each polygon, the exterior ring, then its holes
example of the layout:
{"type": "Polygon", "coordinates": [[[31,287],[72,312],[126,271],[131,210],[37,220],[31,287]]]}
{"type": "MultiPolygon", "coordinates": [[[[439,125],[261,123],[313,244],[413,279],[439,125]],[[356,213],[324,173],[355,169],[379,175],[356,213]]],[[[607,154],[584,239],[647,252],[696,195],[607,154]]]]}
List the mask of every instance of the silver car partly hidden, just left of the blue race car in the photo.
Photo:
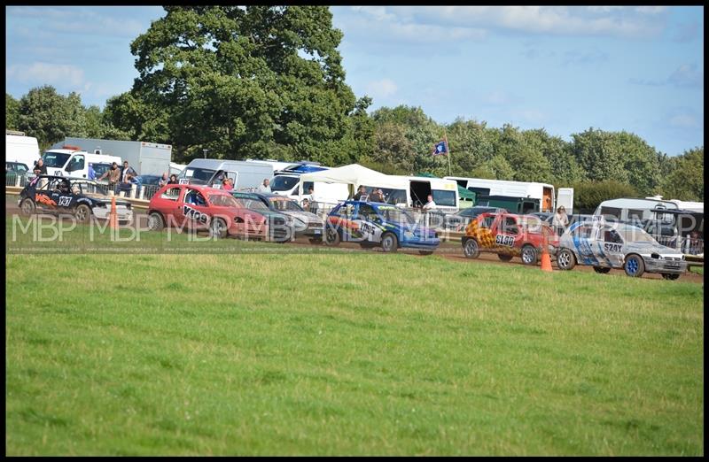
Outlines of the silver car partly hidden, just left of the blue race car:
{"type": "Polygon", "coordinates": [[[306,236],[310,243],[323,242],[323,219],[315,213],[306,212],[290,197],[268,193],[245,193],[234,191],[232,196],[242,199],[261,201],[271,212],[277,212],[286,219],[286,226],[292,228],[292,237],[306,236]]]}

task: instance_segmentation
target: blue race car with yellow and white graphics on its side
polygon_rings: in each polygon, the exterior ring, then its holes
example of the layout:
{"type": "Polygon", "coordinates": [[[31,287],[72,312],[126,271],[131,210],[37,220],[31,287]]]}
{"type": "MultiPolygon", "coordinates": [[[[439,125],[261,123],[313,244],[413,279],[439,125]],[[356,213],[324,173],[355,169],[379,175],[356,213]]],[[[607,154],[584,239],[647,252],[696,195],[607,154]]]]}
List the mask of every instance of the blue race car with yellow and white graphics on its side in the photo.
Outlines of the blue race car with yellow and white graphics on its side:
{"type": "Polygon", "coordinates": [[[431,255],[440,244],[436,232],[418,225],[409,213],[391,204],[346,201],[332,209],[325,226],[325,243],[360,243],[364,248],[381,245],[386,252],[400,247],[431,255]]]}

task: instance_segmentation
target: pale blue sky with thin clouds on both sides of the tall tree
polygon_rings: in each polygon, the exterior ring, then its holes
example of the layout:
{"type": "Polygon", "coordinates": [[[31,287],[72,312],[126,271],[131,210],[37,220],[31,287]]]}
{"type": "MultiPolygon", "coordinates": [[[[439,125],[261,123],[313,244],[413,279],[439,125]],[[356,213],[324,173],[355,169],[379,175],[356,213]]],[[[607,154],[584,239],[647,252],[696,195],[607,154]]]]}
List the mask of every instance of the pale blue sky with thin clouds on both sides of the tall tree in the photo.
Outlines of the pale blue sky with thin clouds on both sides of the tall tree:
{"type": "MultiPolygon", "coordinates": [[[[640,135],[669,155],[704,145],[704,8],[337,6],[347,83],[370,110],[640,135]]],[[[129,43],[160,7],[6,7],[5,90],[43,84],[84,104],[132,86],[129,43]]]]}

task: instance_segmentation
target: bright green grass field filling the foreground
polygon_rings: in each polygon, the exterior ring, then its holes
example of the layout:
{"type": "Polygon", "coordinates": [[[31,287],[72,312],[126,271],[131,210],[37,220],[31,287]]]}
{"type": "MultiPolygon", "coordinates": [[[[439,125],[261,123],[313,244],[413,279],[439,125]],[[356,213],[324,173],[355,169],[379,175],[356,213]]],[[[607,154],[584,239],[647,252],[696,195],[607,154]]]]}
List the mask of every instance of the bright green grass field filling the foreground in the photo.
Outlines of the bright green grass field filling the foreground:
{"type": "Polygon", "coordinates": [[[373,253],[5,267],[8,455],[704,454],[703,284],[373,253]]]}

